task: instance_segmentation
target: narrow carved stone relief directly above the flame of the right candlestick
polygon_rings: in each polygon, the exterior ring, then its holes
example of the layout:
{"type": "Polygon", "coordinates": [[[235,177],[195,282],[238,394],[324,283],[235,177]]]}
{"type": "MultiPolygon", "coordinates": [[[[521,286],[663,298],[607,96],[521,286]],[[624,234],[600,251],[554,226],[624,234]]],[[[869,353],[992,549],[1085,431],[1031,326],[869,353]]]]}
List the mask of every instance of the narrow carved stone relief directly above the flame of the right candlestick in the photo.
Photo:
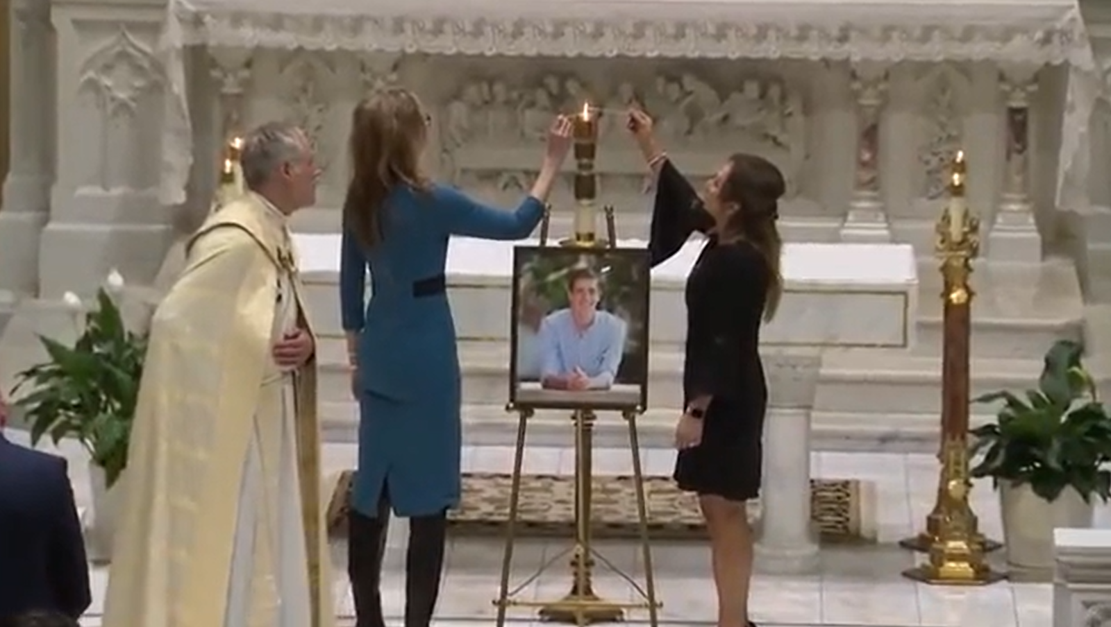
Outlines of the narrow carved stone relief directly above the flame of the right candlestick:
{"type": "Polygon", "coordinates": [[[967,85],[965,77],[948,64],[937,67],[919,83],[925,97],[918,152],[924,175],[922,198],[935,200],[945,193],[950,163],[963,141],[961,103],[967,85]]]}

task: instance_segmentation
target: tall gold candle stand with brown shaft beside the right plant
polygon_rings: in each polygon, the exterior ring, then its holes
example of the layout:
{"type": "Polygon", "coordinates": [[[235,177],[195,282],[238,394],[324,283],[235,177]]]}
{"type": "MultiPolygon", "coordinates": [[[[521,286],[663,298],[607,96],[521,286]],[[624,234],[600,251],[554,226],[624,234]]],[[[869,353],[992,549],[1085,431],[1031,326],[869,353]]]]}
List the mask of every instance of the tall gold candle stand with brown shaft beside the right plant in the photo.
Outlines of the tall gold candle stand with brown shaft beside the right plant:
{"type": "Polygon", "coordinates": [[[935,250],[944,289],[941,297],[941,468],[938,500],[927,518],[927,532],[900,543],[925,545],[929,560],[903,572],[927,584],[975,586],[1002,579],[984,560],[985,539],[969,504],[969,345],[972,331],[971,260],[980,251],[980,221],[964,200],[964,153],[957,153],[949,184],[950,202],[937,224],[935,250]]]}

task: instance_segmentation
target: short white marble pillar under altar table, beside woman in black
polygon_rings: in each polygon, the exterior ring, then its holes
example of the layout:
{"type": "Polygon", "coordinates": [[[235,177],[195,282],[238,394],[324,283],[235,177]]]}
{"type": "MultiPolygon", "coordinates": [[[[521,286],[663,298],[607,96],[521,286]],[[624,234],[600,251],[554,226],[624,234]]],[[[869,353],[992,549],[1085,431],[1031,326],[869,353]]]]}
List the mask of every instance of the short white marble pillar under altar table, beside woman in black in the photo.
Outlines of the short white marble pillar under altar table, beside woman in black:
{"type": "Polygon", "coordinates": [[[818,569],[810,516],[810,409],[777,412],[765,423],[764,474],[755,556],[760,570],[802,575],[818,569]]]}

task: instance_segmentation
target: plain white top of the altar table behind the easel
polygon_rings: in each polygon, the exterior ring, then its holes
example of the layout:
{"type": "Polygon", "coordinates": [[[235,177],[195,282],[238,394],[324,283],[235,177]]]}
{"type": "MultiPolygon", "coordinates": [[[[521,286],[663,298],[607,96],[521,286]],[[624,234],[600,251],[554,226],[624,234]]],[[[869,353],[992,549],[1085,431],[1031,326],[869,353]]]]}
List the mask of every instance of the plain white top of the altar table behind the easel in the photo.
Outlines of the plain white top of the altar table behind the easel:
{"type": "MultiPolygon", "coordinates": [[[[537,245],[538,240],[493,242],[473,237],[452,237],[448,245],[448,284],[452,281],[473,283],[476,279],[504,282],[513,270],[513,249],[537,245]]],[[[302,273],[339,272],[340,235],[293,235],[302,273]]],[[[647,242],[621,240],[621,247],[642,249],[647,242]]],[[[675,256],[652,270],[657,286],[675,286],[685,282],[703,242],[691,239],[675,256]]],[[[874,290],[883,286],[914,286],[918,265],[910,244],[820,244],[787,243],[783,245],[782,272],[791,290],[837,289],[839,291],[874,290]]]]}

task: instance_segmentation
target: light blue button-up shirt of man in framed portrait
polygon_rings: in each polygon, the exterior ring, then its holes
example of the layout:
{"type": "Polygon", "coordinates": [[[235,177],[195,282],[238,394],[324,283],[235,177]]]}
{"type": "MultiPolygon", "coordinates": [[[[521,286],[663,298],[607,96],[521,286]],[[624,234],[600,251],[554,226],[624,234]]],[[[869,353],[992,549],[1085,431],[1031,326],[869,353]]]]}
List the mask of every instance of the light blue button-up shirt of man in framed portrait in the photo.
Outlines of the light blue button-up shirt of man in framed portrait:
{"type": "Polygon", "coordinates": [[[574,368],[590,380],[590,390],[613,385],[624,355],[628,324],[603,311],[594,312],[590,326],[578,328],[571,310],[552,312],[540,323],[541,377],[567,376],[574,368]]]}

